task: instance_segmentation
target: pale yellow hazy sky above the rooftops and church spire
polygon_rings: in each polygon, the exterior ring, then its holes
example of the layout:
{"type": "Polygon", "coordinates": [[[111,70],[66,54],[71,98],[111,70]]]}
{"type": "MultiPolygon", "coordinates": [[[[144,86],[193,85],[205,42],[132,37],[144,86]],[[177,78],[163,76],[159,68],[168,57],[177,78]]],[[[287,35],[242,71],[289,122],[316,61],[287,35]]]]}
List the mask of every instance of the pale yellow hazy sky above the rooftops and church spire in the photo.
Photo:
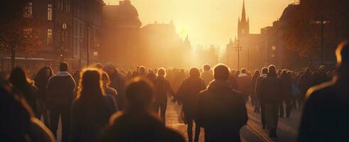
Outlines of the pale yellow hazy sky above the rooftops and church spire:
{"type": "MultiPolygon", "coordinates": [[[[119,0],[104,0],[119,4],[119,0]]],[[[250,33],[271,26],[294,0],[245,0],[250,33]]],[[[181,37],[189,35],[192,45],[220,45],[237,36],[237,18],[241,16],[242,0],[131,0],[145,26],[173,20],[181,37]]]]}

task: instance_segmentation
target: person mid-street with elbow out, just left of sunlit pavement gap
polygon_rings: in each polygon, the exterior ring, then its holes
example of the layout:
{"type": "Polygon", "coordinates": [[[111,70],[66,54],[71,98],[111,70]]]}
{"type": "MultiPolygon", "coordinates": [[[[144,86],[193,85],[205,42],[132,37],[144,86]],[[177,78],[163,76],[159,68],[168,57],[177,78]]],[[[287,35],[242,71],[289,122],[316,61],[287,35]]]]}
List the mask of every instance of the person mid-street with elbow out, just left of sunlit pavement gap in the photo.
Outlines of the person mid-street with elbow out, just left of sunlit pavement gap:
{"type": "Polygon", "coordinates": [[[158,77],[155,80],[155,99],[154,99],[154,110],[159,113],[160,109],[160,117],[163,120],[163,124],[166,124],[166,108],[167,108],[167,97],[168,94],[171,96],[175,96],[175,92],[173,91],[170,82],[166,80],[166,71],[163,68],[158,70],[158,77]]]}

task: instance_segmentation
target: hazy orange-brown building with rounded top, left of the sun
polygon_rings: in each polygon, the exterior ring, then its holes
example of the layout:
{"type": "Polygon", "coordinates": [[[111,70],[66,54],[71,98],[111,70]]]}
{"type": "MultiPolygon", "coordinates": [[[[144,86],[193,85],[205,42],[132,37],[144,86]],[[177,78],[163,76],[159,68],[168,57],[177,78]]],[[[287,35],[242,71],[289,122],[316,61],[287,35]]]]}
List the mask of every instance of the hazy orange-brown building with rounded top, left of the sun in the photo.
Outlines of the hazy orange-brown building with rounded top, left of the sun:
{"type": "MultiPolygon", "coordinates": [[[[139,64],[139,30],[141,21],[131,1],[103,7],[103,62],[113,62],[119,67],[139,64]]],[[[140,59],[139,59],[140,60],[140,59]]]]}

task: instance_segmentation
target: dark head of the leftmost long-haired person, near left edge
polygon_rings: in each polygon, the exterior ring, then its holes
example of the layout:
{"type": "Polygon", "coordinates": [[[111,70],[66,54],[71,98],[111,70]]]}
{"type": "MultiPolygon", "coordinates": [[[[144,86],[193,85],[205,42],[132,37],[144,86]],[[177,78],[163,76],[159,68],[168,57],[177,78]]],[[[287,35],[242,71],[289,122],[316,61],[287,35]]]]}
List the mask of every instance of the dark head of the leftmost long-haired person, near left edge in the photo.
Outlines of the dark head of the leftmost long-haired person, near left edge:
{"type": "Polygon", "coordinates": [[[29,81],[26,72],[21,67],[16,67],[11,71],[9,82],[14,85],[16,89],[23,89],[31,82],[29,81]]]}

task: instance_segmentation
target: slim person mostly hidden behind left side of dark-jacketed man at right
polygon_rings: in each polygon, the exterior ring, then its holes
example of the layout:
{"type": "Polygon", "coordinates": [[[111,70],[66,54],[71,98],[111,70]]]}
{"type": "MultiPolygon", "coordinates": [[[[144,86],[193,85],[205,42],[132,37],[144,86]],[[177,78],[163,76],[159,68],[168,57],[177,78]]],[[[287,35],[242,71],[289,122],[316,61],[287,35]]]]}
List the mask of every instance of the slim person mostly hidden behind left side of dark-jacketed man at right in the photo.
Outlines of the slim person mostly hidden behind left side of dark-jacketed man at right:
{"type": "Polygon", "coordinates": [[[265,121],[265,105],[264,102],[262,102],[261,100],[261,96],[262,96],[262,86],[261,86],[261,82],[262,80],[267,77],[268,74],[268,68],[267,67],[263,67],[262,68],[262,75],[260,77],[257,78],[257,82],[256,82],[256,95],[257,95],[257,101],[258,104],[261,108],[261,121],[262,121],[262,129],[266,129],[267,128],[267,121],[265,121]]]}

